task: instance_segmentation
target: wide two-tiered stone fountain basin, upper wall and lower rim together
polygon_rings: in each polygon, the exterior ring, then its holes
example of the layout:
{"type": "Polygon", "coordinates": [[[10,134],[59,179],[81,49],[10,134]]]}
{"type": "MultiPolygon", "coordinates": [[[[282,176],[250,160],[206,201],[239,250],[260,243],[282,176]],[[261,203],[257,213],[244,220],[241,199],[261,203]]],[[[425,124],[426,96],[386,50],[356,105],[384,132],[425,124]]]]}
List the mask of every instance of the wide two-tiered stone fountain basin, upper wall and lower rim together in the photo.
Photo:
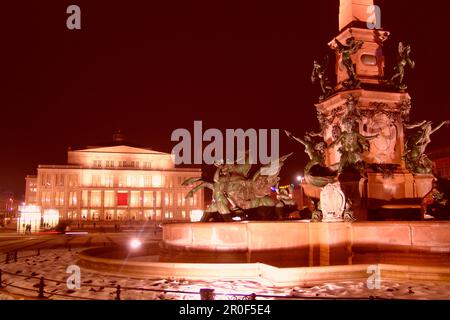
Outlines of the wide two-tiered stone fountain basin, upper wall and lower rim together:
{"type": "Polygon", "coordinates": [[[450,281],[450,223],[174,223],[158,245],[101,247],[80,265],[140,278],[259,279],[273,286],[367,279],[450,281]]]}

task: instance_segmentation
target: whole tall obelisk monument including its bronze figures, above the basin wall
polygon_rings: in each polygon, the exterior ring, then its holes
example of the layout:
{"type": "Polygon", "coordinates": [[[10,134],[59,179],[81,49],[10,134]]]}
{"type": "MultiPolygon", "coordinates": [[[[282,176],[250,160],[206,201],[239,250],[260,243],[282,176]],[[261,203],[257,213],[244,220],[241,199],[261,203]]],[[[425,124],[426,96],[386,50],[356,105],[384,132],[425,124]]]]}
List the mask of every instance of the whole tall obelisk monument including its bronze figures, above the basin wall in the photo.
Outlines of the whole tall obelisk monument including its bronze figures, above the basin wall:
{"type": "MultiPolygon", "coordinates": [[[[310,157],[303,187],[317,204],[315,221],[377,220],[386,208],[417,212],[435,179],[425,154],[430,136],[450,123],[434,128],[430,121],[409,123],[405,81],[406,72],[415,68],[411,46],[399,43],[397,64],[385,74],[382,47],[389,32],[364,22],[370,7],[373,1],[341,1],[340,33],[328,44],[336,57],[334,85],[329,55],[322,64],[314,61],[311,79],[321,89],[315,105],[320,132],[303,139],[286,132],[310,157]],[[326,204],[320,201],[325,198],[326,204]]],[[[418,219],[420,213],[406,218],[418,219]]]]}

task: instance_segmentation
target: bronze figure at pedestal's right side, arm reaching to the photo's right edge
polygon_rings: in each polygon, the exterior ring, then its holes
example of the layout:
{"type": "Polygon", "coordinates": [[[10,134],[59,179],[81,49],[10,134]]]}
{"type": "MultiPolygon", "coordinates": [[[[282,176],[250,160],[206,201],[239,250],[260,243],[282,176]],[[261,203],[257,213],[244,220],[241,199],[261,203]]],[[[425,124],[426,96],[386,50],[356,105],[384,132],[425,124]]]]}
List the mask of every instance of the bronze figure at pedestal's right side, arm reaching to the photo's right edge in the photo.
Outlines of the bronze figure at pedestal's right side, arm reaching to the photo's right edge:
{"type": "Polygon", "coordinates": [[[441,129],[444,125],[449,125],[450,121],[443,121],[433,129],[431,121],[422,121],[415,124],[406,124],[406,129],[420,128],[417,132],[412,134],[405,144],[405,153],[403,159],[406,162],[407,168],[413,173],[430,174],[433,171],[432,162],[425,155],[425,150],[431,142],[431,135],[441,129]]]}

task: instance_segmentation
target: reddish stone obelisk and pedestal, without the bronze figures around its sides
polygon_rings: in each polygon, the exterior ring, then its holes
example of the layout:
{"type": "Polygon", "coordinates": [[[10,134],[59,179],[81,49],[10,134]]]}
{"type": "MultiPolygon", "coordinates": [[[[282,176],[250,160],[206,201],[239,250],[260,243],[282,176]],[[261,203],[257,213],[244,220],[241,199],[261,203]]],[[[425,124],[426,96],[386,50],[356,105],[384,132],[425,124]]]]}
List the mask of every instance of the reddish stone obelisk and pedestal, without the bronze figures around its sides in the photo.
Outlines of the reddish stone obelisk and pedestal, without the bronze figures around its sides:
{"type": "Polygon", "coordinates": [[[389,32],[381,29],[377,12],[373,0],[340,0],[339,34],[328,44],[336,55],[336,85],[316,104],[323,139],[332,146],[325,154],[326,166],[348,161],[342,160],[342,142],[336,142],[340,135],[367,137],[366,145],[360,143],[363,177],[341,182],[358,220],[366,220],[371,208],[382,209],[394,200],[422,198],[433,180],[432,175],[413,175],[406,169],[404,131],[411,98],[385,74],[383,43],[389,32]]]}

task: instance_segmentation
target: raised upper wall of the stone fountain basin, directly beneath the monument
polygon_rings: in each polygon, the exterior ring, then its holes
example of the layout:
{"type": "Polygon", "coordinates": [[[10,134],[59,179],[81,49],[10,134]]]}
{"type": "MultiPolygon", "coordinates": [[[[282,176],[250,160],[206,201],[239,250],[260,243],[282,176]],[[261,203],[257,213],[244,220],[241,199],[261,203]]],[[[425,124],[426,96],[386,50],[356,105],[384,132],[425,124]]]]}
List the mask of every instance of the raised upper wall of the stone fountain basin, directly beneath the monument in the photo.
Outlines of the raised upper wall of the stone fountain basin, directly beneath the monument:
{"type": "Polygon", "coordinates": [[[448,254],[449,231],[450,222],[173,223],[163,226],[163,245],[188,252],[247,253],[251,262],[271,265],[295,255],[301,265],[328,266],[351,264],[356,253],[448,254]]]}

